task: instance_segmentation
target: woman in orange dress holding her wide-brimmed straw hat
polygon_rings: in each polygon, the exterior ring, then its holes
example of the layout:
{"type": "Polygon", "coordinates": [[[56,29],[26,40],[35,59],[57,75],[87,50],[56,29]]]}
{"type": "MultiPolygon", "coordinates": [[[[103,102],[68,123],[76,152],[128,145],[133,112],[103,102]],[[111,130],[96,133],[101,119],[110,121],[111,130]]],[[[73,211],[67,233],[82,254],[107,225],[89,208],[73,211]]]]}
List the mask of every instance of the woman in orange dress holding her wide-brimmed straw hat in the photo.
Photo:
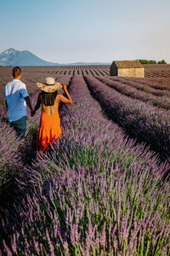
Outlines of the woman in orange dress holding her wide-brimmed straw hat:
{"type": "Polygon", "coordinates": [[[37,104],[31,112],[33,116],[37,109],[42,105],[42,115],[40,119],[39,129],[37,131],[37,150],[48,148],[48,143],[54,141],[61,135],[60,119],[59,119],[59,102],[72,104],[71,96],[65,84],[55,83],[54,78],[47,78],[46,83],[37,83],[42,92],[37,97],[37,104]],[[63,88],[65,96],[58,93],[63,88]]]}

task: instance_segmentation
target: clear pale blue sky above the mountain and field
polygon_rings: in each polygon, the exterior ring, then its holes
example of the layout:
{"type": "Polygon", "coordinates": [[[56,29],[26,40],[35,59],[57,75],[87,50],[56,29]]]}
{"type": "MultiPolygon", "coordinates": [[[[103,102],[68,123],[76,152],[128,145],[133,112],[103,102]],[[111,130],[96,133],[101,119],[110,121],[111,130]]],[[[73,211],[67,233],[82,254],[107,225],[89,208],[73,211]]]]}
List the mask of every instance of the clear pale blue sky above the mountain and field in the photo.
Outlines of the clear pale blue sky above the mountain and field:
{"type": "Polygon", "coordinates": [[[45,61],[170,63],[169,0],[0,0],[0,53],[45,61]]]}

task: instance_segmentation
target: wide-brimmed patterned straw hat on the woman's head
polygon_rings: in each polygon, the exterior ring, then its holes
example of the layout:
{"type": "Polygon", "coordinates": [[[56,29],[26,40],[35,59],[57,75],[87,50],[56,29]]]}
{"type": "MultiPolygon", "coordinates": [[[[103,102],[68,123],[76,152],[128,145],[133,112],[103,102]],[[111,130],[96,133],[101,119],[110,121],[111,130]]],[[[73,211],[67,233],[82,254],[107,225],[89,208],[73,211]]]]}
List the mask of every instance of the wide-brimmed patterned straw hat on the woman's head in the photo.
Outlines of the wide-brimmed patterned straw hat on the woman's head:
{"type": "Polygon", "coordinates": [[[54,92],[61,89],[63,86],[61,83],[56,82],[54,78],[46,78],[45,83],[37,83],[37,87],[45,92],[54,92]]]}

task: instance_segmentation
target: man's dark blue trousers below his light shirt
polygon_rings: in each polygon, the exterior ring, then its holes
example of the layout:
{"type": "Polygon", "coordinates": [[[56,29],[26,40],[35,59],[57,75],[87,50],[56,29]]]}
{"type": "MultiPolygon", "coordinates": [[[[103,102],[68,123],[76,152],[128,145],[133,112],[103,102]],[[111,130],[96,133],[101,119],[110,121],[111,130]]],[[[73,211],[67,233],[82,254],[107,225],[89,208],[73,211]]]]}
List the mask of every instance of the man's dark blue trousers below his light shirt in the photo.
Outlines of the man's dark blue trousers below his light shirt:
{"type": "Polygon", "coordinates": [[[16,121],[11,121],[10,125],[14,127],[17,135],[22,139],[25,138],[26,134],[26,116],[23,116],[21,119],[16,121]]]}

